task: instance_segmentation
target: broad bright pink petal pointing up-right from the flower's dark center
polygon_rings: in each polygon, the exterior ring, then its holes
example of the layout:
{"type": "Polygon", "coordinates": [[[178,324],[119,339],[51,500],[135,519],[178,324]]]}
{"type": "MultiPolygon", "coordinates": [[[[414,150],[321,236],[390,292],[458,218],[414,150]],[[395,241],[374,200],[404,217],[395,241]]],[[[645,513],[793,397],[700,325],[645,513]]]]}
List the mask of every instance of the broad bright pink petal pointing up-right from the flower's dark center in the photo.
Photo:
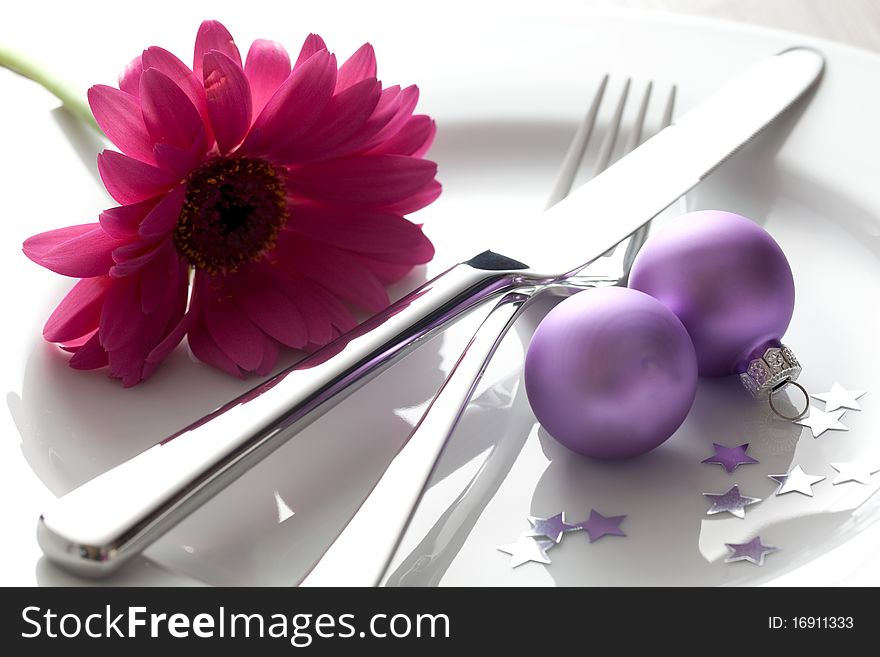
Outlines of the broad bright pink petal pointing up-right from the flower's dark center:
{"type": "Polygon", "coordinates": [[[318,120],[335,84],[336,58],[326,50],[315,53],[269,99],[239,151],[271,154],[304,134],[318,120]]]}

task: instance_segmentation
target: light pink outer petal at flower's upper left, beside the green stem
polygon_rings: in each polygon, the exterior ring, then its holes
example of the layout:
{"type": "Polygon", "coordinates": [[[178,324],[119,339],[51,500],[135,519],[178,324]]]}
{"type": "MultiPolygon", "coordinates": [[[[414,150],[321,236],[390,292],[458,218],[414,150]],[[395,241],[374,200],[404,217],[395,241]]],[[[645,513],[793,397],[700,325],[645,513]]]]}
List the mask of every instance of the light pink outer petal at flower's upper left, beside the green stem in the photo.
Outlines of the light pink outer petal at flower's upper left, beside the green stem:
{"type": "Polygon", "coordinates": [[[153,140],[136,96],[98,84],[89,89],[89,107],[104,134],[126,155],[153,163],[153,140]]]}

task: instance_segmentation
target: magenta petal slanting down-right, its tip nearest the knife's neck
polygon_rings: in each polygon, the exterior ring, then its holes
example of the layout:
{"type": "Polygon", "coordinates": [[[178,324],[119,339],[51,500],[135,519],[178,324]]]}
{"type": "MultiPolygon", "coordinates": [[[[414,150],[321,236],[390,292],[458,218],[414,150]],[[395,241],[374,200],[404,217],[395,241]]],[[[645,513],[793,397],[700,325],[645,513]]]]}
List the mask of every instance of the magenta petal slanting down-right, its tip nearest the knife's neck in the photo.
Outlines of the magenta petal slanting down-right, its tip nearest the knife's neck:
{"type": "Polygon", "coordinates": [[[277,248],[286,256],[280,267],[311,278],[340,298],[373,312],[388,305],[379,279],[352,254],[301,235],[279,239],[277,248]]]}

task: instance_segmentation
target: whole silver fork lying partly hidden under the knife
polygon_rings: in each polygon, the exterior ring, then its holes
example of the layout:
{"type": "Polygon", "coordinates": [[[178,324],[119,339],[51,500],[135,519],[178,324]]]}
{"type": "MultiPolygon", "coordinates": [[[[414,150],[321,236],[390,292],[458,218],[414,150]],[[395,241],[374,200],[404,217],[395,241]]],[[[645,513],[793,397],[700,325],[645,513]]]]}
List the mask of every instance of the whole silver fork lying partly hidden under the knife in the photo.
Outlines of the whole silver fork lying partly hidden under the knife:
{"type": "MultiPolygon", "coordinates": [[[[599,83],[590,108],[563,159],[548,207],[568,196],[572,190],[595,130],[607,87],[606,75],[599,83]]],[[[624,147],[625,152],[635,149],[641,142],[652,88],[653,85],[649,82],[642,94],[633,130],[624,147]]],[[[608,132],[599,148],[593,176],[611,162],[629,89],[630,80],[627,79],[615,104],[608,132]]],[[[661,129],[671,123],[674,103],[673,86],[664,107],[661,129]]],[[[498,301],[465,347],[446,381],[416,424],[409,440],[300,586],[381,584],[443,448],[455,431],[477,384],[507,331],[526,308],[540,297],[551,294],[569,296],[591,287],[624,283],[636,253],[647,239],[647,232],[648,227],[643,226],[624,240],[628,244],[622,254],[617,248],[606,253],[607,257],[600,262],[603,270],[613,274],[592,272],[593,267],[590,266],[556,283],[513,290],[498,301]]],[[[480,473],[477,477],[479,475],[480,473]]],[[[471,490],[471,486],[468,490],[471,490]]]]}

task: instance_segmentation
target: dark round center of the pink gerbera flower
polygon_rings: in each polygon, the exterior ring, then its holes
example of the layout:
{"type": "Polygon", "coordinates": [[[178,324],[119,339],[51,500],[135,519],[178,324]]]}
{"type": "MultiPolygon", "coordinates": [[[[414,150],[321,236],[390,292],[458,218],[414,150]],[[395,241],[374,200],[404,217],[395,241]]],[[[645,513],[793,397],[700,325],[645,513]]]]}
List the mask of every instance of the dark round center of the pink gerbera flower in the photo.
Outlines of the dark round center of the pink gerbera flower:
{"type": "Polygon", "coordinates": [[[231,272],[275,246],[286,219],[284,184],[271,164],[218,157],[189,175],[174,245],[198,269],[231,272]]]}

